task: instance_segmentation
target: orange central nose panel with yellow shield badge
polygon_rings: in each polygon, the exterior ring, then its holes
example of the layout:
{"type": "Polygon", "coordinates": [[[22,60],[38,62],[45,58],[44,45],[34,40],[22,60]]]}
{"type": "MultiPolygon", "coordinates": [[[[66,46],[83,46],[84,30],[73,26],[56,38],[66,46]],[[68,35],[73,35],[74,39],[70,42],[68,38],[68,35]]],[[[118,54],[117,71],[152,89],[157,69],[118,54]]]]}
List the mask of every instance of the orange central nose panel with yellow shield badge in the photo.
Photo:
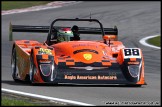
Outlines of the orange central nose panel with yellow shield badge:
{"type": "MultiPolygon", "coordinates": [[[[119,52],[120,47],[124,47],[121,44],[121,42],[113,41],[113,43],[114,43],[113,46],[116,46],[118,50],[113,51],[111,47],[108,47],[107,45],[103,43],[93,42],[93,41],[63,42],[61,44],[52,45],[52,47],[54,47],[54,50],[57,52],[56,57],[57,56],[70,56],[71,58],[74,59],[74,62],[84,62],[86,64],[90,64],[93,62],[102,62],[102,60],[105,60],[105,59],[110,60],[110,58],[113,57],[112,56],[113,54],[119,52]],[[118,46],[118,43],[120,43],[119,46],[118,46]],[[85,48],[89,49],[90,51],[84,51],[85,48]],[[74,54],[73,52],[77,50],[83,50],[83,51],[78,52],[77,54],[74,54]],[[93,50],[96,50],[98,54],[96,54],[95,52],[91,52],[93,50]],[[109,56],[109,57],[106,58],[106,56],[109,56]]],[[[109,63],[103,62],[103,64],[111,66],[110,62],[109,63]]]]}

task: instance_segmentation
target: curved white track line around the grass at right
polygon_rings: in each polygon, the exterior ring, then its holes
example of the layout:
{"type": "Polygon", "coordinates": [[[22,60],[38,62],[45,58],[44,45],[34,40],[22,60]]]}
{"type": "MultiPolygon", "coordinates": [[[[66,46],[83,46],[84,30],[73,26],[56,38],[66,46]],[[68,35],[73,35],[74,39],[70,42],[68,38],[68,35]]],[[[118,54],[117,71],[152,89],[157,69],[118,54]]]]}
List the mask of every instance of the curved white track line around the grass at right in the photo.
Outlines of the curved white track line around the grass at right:
{"type": "Polygon", "coordinates": [[[161,47],[157,47],[157,46],[154,46],[154,45],[150,45],[148,44],[146,41],[150,38],[154,38],[156,36],[159,36],[159,35],[153,35],[153,36],[148,36],[148,37],[145,37],[143,39],[141,39],[139,42],[142,44],[142,45],[145,45],[145,46],[148,46],[148,47],[152,47],[152,48],[156,48],[156,49],[161,49],[161,47]]]}

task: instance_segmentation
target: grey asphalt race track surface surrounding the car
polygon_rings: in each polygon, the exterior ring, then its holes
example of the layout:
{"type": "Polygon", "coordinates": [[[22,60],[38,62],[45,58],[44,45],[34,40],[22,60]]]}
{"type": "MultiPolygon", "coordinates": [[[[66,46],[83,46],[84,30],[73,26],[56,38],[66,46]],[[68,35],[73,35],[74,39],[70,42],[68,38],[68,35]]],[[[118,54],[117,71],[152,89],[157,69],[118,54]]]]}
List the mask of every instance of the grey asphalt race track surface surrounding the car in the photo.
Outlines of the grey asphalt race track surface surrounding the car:
{"type": "MultiPolygon", "coordinates": [[[[56,9],[2,16],[2,88],[94,105],[106,105],[108,101],[159,101],[161,103],[161,50],[146,47],[139,43],[139,40],[146,36],[160,34],[160,6],[160,2],[157,1],[82,2],[56,9]],[[104,27],[117,25],[119,40],[126,47],[139,47],[143,50],[147,85],[142,87],[112,85],[31,86],[30,84],[15,83],[13,81],[10,63],[13,42],[8,41],[10,21],[13,24],[49,25],[56,18],[89,18],[90,12],[92,18],[99,19],[104,27]]],[[[25,36],[21,33],[14,36],[14,39],[34,39],[38,41],[46,39],[46,34],[34,35],[38,36],[32,36],[29,33],[25,36]]]]}

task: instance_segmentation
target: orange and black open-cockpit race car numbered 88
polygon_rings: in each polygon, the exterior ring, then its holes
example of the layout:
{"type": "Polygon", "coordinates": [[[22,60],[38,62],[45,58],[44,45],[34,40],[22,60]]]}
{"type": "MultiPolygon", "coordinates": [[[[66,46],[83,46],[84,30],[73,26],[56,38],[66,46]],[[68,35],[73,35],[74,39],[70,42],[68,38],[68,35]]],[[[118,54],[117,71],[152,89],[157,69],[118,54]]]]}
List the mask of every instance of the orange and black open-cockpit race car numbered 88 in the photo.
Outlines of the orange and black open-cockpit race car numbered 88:
{"type": "Polygon", "coordinates": [[[10,40],[12,32],[48,33],[43,43],[14,41],[11,66],[15,81],[146,84],[142,50],[126,48],[118,41],[116,26],[103,28],[97,19],[56,19],[50,26],[10,24],[10,40]]]}

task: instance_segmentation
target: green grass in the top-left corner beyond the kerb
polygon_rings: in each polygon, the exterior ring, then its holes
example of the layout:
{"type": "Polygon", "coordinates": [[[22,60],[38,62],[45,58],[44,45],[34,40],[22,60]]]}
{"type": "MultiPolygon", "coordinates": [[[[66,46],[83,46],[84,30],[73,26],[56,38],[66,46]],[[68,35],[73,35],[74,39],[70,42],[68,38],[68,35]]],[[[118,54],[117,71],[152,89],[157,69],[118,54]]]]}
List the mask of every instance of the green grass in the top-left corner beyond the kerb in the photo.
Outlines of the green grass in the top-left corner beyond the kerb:
{"type": "Polygon", "coordinates": [[[51,1],[2,1],[1,9],[11,10],[11,9],[27,8],[31,6],[47,4],[49,2],[51,1]]]}

